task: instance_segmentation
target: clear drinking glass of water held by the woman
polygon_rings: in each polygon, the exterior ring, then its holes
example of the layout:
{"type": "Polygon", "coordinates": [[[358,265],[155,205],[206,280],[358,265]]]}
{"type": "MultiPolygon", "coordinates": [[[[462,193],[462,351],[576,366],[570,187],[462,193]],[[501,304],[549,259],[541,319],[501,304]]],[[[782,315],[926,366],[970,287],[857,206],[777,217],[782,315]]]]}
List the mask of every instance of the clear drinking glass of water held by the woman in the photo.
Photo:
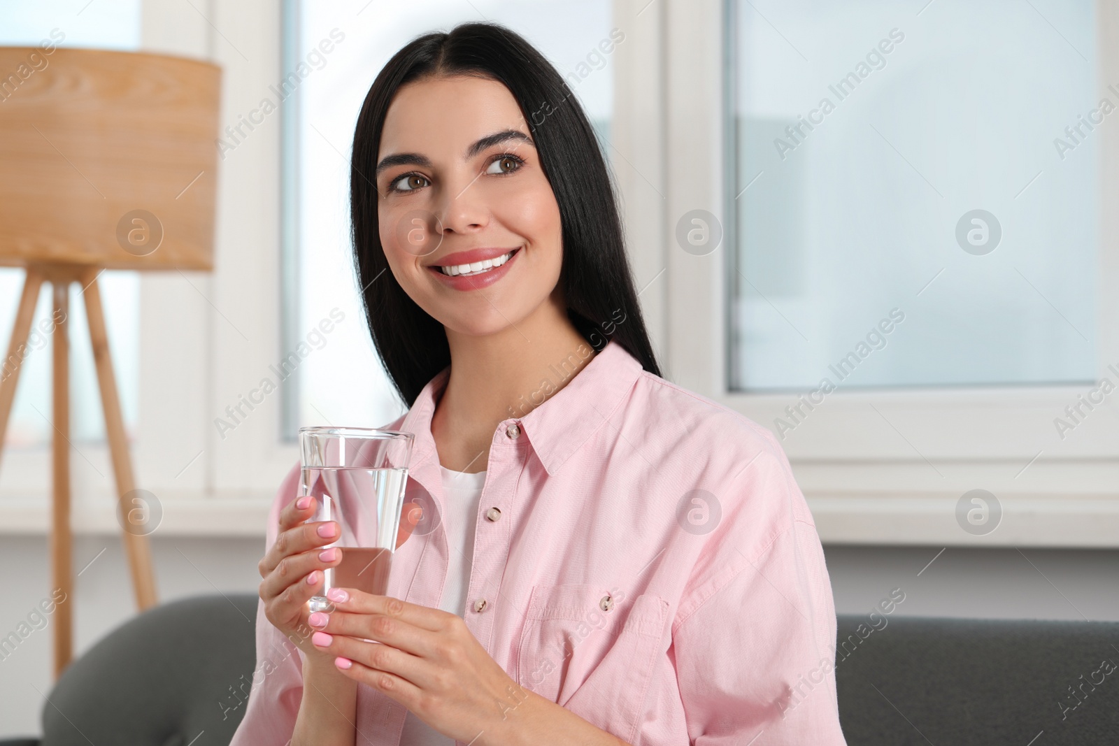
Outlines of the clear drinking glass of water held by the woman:
{"type": "Polygon", "coordinates": [[[327,611],[335,586],[385,595],[401,526],[412,433],[370,427],[301,427],[301,495],[316,500],[311,521],[337,521],[342,560],[323,572],[312,612],[327,611]]]}

